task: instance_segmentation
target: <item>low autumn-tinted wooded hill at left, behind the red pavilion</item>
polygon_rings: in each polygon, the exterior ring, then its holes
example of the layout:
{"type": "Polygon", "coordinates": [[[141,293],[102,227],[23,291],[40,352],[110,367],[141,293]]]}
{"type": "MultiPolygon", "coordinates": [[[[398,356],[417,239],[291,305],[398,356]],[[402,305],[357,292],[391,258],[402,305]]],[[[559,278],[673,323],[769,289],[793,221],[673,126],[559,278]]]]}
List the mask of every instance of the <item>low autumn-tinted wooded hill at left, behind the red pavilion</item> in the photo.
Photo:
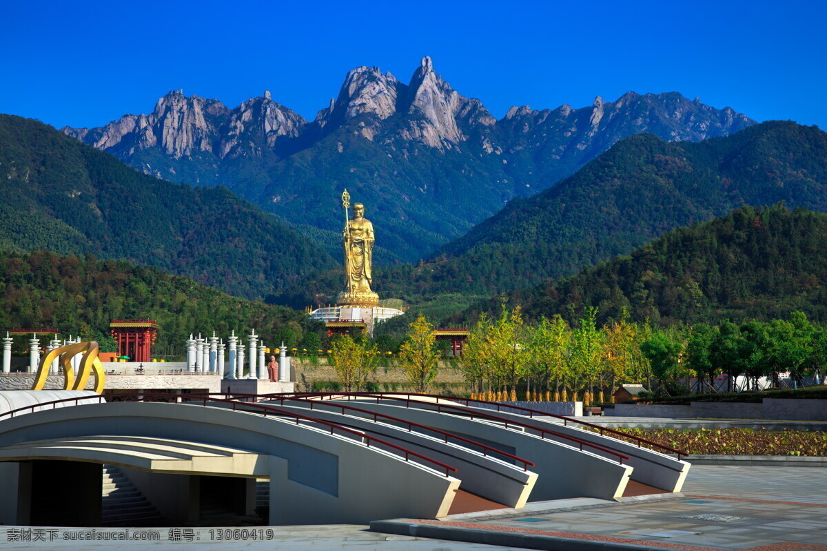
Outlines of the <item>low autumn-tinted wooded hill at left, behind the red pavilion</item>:
{"type": "Polygon", "coordinates": [[[183,354],[192,332],[255,329],[271,346],[284,325],[294,333],[321,325],[289,308],[230,297],[123,260],[0,251],[0,327],[48,326],[64,336],[106,341],[113,319],[131,318],[158,322],[160,354],[183,354]]]}

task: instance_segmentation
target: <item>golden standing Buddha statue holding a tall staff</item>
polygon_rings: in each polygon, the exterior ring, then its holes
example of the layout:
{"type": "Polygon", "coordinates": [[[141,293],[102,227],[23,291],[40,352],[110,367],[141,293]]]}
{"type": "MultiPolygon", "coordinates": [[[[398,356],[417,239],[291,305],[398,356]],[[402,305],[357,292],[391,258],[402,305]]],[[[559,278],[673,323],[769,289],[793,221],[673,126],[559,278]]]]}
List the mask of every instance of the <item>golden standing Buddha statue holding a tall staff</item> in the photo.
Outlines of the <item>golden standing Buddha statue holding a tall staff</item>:
{"type": "Polygon", "coordinates": [[[346,209],[342,249],[347,291],[339,293],[337,303],[343,306],[376,306],[379,303],[379,295],[370,288],[373,283],[370,271],[375,240],[373,224],[365,218],[365,206],[358,202],[353,204],[353,219],[347,220],[348,199],[350,196],[345,190],[342,194],[342,204],[346,209]]]}

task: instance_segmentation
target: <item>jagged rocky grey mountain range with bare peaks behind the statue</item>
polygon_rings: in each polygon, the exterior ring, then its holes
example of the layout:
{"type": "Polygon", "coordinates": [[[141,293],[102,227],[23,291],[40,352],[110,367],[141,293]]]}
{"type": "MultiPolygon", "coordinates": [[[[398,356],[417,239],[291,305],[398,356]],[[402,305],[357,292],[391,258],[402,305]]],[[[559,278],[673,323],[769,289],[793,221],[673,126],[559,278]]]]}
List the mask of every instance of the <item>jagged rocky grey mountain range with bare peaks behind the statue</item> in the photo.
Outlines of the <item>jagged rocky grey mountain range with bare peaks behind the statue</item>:
{"type": "Polygon", "coordinates": [[[698,141],[753,124],[679,93],[632,92],[580,109],[512,107],[497,120],[426,57],[407,84],[375,67],[353,69],[313,121],[270,93],[231,109],[177,91],[149,114],[62,130],[158,178],[227,186],[336,256],[337,200],[348,188],[375,224],[376,262],[389,264],[427,257],[629,135],[698,141]]]}

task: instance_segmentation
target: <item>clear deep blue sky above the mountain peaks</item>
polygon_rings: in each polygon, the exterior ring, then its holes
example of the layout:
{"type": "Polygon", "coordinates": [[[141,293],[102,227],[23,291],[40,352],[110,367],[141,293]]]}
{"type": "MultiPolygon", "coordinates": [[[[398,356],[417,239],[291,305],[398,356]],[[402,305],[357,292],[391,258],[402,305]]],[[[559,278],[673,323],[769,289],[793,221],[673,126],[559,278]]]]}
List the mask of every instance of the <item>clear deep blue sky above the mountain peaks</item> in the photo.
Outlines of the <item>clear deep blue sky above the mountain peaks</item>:
{"type": "Polygon", "coordinates": [[[827,2],[2,2],[0,112],[99,126],[183,88],[308,119],[344,75],[423,55],[497,117],[677,91],[827,128],[827,2]]]}

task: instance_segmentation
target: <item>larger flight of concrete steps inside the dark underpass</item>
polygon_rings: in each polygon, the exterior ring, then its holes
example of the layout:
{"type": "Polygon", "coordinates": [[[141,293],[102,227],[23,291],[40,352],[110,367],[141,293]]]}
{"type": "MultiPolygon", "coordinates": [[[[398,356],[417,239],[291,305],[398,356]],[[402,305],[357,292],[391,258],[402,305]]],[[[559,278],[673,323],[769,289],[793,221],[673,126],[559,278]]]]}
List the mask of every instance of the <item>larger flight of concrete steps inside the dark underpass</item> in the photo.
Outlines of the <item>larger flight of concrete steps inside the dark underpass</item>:
{"type": "Polygon", "coordinates": [[[114,465],[103,465],[103,526],[162,526],[164,517],[114,465]]]}

